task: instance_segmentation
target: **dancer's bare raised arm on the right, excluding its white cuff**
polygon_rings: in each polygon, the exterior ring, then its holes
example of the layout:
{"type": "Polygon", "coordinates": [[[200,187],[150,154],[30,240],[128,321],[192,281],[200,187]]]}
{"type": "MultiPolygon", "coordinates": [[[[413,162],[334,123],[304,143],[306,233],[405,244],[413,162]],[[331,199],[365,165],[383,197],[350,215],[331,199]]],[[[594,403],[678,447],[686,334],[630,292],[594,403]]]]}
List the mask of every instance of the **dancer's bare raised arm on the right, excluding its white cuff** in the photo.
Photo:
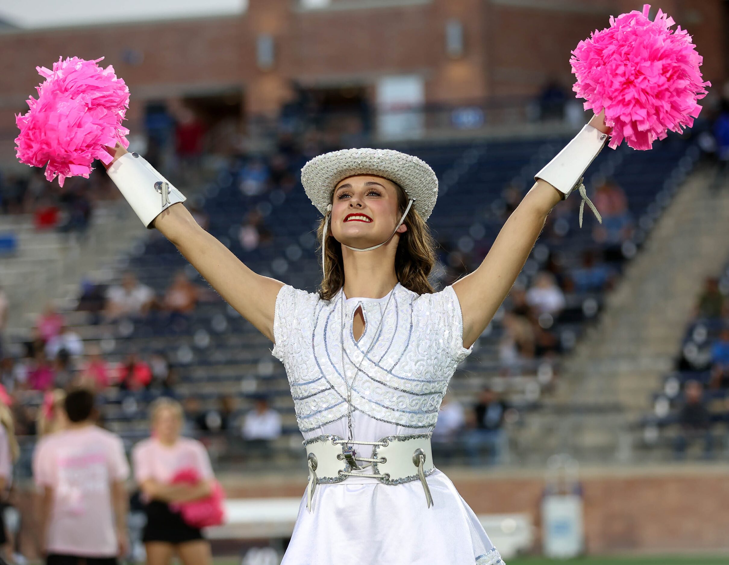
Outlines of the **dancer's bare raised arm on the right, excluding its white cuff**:
{"type": "MultiPolygon", "coordinates": [[[[589,125],[603,133],[610,130],[604,111],[593,116],[589,125]]],[[[453,283],[461,303],[464,347],[471,347],[494,317],[542,233],[547,215],[563,197],[561,191],[539,178],[504,223],[478,268],[453,283]]]]}

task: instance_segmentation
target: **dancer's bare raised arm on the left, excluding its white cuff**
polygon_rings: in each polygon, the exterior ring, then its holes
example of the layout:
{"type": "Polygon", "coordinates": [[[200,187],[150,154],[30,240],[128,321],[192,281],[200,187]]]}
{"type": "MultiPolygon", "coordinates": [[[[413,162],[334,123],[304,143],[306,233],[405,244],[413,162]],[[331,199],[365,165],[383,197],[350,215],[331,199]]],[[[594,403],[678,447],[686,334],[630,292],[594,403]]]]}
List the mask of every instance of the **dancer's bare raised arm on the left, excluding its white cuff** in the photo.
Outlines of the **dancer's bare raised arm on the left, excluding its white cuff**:
{"type": "MultiPolygon", "coordinates": [[[[109,152],[114,155],[114,161],[106,165],[107,170],[127,153],[119,143],[114,149],[109,148],[109,152]]],[[[182,202],[165,208],[152,225],[230,306],[273,341],[273,312],[283,282],[249,269],[230,249],[201,228],[182,202]]]]}

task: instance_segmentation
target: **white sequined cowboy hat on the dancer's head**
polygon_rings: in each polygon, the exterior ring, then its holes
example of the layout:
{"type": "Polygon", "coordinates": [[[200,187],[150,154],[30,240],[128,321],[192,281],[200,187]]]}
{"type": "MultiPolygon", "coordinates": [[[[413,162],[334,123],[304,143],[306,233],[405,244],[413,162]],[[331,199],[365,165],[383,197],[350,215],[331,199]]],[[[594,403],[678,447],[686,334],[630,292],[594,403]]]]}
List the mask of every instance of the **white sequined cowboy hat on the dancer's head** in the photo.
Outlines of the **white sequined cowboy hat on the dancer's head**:
{"type": "Polygon", "coordinates": [[[376,175],[397,183],[421,218],[438,197],[438,178],[423,160],[394,149],[341,149],[314,157],[301,169],[301,183],[316,209],[327,215],[337,184],[353,175],[376,175]]]}

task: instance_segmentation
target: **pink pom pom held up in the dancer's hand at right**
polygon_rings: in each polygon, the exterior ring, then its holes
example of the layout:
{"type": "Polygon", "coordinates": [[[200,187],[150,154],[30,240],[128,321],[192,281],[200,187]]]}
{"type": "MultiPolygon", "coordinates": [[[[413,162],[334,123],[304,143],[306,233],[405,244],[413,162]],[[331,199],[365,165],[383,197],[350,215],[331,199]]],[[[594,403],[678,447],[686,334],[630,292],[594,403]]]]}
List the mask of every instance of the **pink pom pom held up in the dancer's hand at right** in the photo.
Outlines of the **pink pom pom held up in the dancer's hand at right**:
{"type": "Polygon", "coordinates": [[[711,86],[701,81],[703,58],[687,31],[669,30],[674,20],[660,9],[650,21],[649,10],[644,4],[643,12],[611,16],[610,27],[580,42],[569,60],[577,77],[572,90],[587,100],[585,110],[605,109],[612,149],[623,138],[633,149],[650,149],[667,130],[692,126],[701,111],[696,100],[711,86]]]}

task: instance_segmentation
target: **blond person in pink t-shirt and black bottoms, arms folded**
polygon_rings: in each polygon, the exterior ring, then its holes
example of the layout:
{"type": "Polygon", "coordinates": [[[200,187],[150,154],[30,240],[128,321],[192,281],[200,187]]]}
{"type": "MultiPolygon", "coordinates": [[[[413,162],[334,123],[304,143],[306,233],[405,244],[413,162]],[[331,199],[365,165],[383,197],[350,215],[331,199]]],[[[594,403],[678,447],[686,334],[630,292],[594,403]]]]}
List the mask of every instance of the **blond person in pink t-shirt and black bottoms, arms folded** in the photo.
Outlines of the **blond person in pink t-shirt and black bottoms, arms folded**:
{"type": "Polygon", "coordinates": [[[184,565],[210,565],[210,544],[198,528],[182,519],[170,503],[210,496],[213,470],[208,452],[198,440],[180,437],[182,406],[170,398],[158,398],[151,408],[152,437],[132,450],[134,478],[147,502],[144,548],[147,565],[168,565],[177,553],[184,565]],[[195,470],[197,484],[172,484],[180,470],[195,470]]]}

